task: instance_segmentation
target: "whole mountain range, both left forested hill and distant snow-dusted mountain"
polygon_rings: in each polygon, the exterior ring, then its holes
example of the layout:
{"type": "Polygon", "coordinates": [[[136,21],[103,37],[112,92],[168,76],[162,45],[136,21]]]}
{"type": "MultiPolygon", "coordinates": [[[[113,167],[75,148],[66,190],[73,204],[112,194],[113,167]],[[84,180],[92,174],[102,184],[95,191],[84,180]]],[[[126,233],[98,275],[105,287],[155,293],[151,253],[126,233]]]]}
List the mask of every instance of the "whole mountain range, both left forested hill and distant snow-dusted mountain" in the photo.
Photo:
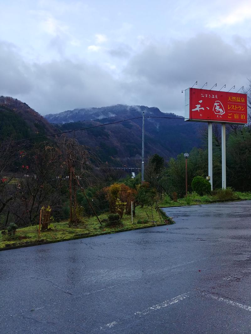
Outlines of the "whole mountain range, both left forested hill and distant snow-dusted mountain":
{"type": "MultiPolygon", "coordinates": [[[[181,152],[190,151],[200,145],[200,130],[203,127],[201,123],[185,122],[181,116],[146,106],[82,108],[43,117],[19,100],[0,97],[0,112],[2,139],[9,136],[22,139],[83,129],[74,132],[79,144],[90,147],[101,162],[111,166],[140,166],[143,112],[145,156],[157,153],[168,160],[181,152]]],[[[72,137],[72,133],[69,136],[72,137]]]]}

